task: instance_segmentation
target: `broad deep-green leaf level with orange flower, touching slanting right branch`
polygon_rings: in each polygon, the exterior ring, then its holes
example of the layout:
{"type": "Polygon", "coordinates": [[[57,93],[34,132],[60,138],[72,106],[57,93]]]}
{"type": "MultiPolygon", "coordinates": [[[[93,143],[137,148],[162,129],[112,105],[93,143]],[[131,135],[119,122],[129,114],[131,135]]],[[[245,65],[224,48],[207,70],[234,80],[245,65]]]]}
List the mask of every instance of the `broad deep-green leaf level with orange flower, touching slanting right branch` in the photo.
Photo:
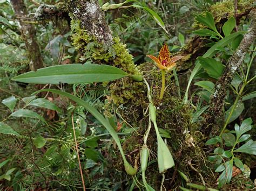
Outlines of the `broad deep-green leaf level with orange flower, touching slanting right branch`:
{"type": "Polygon", "coordinates": [[[213,58],[203,58],[203,57],[198,57],[198,60],[200,61],[201,66],[206,70],[207,74],[210,77],[213,77],[214,79],[218,79],[223,73],[225,66],[221,62],[213,58]]]}

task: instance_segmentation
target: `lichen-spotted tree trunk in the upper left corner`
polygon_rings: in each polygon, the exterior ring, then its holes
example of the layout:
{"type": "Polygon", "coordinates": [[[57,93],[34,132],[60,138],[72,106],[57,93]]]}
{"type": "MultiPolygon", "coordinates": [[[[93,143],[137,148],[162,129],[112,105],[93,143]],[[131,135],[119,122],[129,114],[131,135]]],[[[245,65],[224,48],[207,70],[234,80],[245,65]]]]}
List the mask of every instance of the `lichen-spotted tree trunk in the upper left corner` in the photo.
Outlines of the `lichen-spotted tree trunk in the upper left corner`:
{"type": "Polygon", "coordinates": [[[42,56],[36,39],[36,30],[32,24],[25,23],[23,18],[29,17],[23,0],[11,0],[17,19],[21,20],[22,37],[25,41],[28,57],[30,59],[30,70],[43,68],[42,56]]]}

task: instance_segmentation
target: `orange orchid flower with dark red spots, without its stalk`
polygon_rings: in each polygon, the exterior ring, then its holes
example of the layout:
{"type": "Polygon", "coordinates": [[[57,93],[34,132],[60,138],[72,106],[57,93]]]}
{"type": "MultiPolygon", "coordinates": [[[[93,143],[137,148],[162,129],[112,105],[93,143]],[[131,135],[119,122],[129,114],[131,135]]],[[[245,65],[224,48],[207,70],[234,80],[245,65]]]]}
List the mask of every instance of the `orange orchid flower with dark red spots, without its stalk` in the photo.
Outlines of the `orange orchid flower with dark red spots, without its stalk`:
{"type": "Polygon", "coordinates": [[[165,44],[161,47],[158,58],[153,55],[147,55],[147,57],[151,58],[159,69],[167,69],[170,70],[176,66],[176,61],[183,58],[183,56],[174,56],[171,58],[171,53],[169,51],[169,47],[165,44]]]}

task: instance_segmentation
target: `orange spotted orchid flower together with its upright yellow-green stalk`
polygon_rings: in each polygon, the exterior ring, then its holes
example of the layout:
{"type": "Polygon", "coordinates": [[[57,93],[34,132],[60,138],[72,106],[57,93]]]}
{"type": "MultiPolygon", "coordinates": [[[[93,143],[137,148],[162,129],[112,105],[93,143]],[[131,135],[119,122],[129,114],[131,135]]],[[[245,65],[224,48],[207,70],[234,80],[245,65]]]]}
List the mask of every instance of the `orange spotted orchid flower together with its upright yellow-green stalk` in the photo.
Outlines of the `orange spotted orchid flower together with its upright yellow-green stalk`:
{"type": "Polygon", "coordinates": [[[176,61],[183,58],[183,56],[173,56],[169,51],[169,47],[165,44],[161,47],[160,52],[158,54],[158,58],[153,55],[147,55],[147,57],[151,58],[157,65],[159,69],[161,69],[162,73],[162,87],[160,93],[160,100],[164,97],[164,89],[165,89],[165,70],[173,69],[176,66],[176,61]]]}

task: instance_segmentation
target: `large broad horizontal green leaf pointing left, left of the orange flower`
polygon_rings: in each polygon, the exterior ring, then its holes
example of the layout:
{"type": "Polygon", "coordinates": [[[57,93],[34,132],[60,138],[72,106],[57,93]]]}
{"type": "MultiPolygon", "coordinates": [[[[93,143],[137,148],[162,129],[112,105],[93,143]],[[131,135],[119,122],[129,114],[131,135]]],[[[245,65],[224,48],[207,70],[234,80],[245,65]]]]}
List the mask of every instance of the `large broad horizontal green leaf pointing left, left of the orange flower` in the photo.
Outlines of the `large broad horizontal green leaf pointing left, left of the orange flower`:
{"type": "Polygon", "coordinates": [[[92,83],[117,80],[128,76],[122,69],[92,63],[73,63],[69,65],[50,66],[18,75],[12,80],[25,83],[59,84],[92,83]]]}

